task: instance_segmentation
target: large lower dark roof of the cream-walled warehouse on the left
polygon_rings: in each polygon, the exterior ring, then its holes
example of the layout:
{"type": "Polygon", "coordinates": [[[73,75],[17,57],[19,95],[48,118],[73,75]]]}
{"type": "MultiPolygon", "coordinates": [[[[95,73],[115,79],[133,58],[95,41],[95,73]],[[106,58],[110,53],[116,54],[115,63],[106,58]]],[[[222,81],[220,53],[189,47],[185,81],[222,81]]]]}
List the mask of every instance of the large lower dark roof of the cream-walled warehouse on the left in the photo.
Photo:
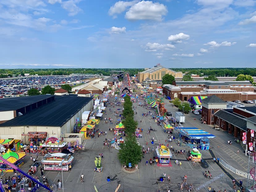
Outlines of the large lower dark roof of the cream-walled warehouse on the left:
{"type": "Polygon", "coordinates": [[[55,96],[55,100],[27,114],[0,124],[6,126],[63,126],[82,109],[91,97],[55,96]]]}

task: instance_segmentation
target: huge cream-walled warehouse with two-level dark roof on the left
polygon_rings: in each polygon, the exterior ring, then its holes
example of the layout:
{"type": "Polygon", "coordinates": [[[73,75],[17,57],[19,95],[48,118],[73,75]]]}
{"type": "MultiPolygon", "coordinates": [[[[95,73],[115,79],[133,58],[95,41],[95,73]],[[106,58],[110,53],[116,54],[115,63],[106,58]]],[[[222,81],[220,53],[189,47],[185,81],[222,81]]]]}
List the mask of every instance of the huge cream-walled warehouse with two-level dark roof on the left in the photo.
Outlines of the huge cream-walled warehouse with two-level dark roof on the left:
{"type": "Polygon", "coordinates": [[[90,97],[39,95],[24,98],[16,97],[11,106],[3,105],[9,98],[0,100],[0,113],[4,110],[9,118],[11,114],[25,111],[0,124],[0,139],[22,139],[21,134],[28,132],[47,132],[49,137],[59,138],[72,132],[84,111],[93,109],[93,98],[90,97]]]}

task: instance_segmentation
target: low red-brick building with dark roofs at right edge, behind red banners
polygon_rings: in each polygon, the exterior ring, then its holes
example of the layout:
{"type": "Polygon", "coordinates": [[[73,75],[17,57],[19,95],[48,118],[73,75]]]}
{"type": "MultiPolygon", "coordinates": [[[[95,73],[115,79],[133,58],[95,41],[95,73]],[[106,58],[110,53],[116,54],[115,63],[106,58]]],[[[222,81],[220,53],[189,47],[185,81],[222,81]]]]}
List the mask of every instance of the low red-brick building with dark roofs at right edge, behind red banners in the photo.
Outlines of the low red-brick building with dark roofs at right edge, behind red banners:
{"type": "Polygon", "coordinates": [[[234,107],[233,109],[220,109],[214,113],[215,125],[240,140],[242,140],[242,132],[246,132],[247,144],[251,142],[250,129],[256,130],[256,123],[248,128],[248,121],[256,121],[256,107],[234,107]]]}

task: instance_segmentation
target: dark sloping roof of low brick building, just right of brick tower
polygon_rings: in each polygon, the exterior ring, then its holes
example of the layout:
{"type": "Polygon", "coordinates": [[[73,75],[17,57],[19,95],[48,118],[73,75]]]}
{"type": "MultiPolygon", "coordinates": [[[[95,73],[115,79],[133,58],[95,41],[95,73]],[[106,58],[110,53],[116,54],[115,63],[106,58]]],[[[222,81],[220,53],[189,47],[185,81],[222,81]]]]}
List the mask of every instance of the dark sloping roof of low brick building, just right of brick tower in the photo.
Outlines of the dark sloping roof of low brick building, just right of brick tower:
{"type": "Polygon", "coordinates": [[[214,113],[216,117],[223,119],[224,121],[246,131],[246,120],[244,118],[238,117],[233,113],[229,113],[228,111],[220,109],[216,113],[214,113]]]}

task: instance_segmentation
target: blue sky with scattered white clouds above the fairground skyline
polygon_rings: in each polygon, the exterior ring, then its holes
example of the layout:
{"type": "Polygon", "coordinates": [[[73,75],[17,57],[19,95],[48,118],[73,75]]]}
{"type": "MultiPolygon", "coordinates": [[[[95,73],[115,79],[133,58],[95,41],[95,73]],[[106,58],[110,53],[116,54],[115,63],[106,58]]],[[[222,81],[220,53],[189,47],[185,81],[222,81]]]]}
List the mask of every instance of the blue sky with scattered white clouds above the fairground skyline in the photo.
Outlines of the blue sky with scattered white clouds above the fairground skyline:
{"type": "Polygon", "coordinates": [[[256,67],[256,0],[0,1],[0,68],[256,67]]]}

